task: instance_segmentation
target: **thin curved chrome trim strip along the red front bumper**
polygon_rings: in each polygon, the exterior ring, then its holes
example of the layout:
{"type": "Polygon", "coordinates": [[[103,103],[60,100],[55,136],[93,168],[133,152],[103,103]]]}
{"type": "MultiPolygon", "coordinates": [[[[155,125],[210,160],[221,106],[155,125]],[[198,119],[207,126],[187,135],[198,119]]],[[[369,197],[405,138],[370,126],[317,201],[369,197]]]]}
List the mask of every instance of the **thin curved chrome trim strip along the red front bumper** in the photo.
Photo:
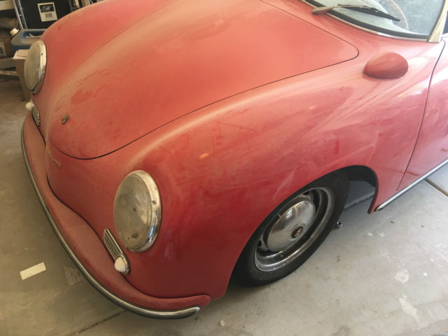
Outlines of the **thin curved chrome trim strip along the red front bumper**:
{"type": "Polygon", "coordinates": [[[85,279],[87,279],[87,281],[89,281],[92,284],[92,286],[94,286],[94,288],[99,291],[99,293],[102,293],[102,295],[107,297],[112,302],[118,304],[120,307],[130,310],[136,314],[140,314],[140,315],[152,317],[152,318],[184,318],[184,317],[191,316],[200,310],[199,306],[193,306],[193,307],[189,307],[189,308],[185,308],[185,309],[178,309],[178,310],[167,310],[167,311],[148,309],[146,307],[141,307],[141,306],[138,306],[137,304],[132,304],[130,302],[123,300],[121,297],[118,297],[117,295],[113,294],[109,289],[104,287],[102,285],[102,283],[97,281],[97,279],[95,279],[94,276],[92,276],[92,274],[90,274],[90,272],[84,267],[83,263],[80,262],[78,257],[76,257],[75,253],[73,253],[73,251],[71,250],[71,247],[69,246],[69,244],[67,244],[67,242],[65,241],[64,237],[62,236],[61,232],[59,231],[59,228],[57,228],[55,220],[52,218],[52,215],[50,214],[50,211],[48,210],[48,207],[45,204],[40,191],[38,190],[36,180],[34,179],[33,173],[31,172],[31,167],[29,167],[27,150],[25,148],[25,138],[24,138],[24,134],[23,134],[23,127],[22,127],[22,154],[23,154],[23,159],[25,160],[25,166],[27,167],[27,171],[29,174],[29,179],[31,180],[34,190],[36,191],[38,200],[39,200],[39,202],[41,202],[43,211],[45,212],[45,215],[47,216],[48,221],[50,222],[50,224],[52,226],[52,229],[55,231],[55,234],[56,234],[57,238],[59,239],[59,241],[61,242],[62,246],[64,246],[65,251],[69,254],[70,258],[73,260],[73,262],[79,268],[80,272],[82,272],[84,274],[85,279]]]}

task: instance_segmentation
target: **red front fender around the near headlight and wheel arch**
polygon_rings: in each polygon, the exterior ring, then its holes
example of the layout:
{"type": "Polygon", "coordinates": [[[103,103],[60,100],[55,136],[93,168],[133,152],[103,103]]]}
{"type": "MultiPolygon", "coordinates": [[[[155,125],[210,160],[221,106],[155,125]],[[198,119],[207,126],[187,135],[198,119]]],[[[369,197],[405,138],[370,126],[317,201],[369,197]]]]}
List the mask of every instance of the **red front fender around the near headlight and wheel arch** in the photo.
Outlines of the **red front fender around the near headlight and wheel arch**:
{"type": "Polygon", "coordinates": [[[63,169],[49,164],[49,181],[102,235],[113,228],[120,181],[133,170],[149,172],[160,189],[162,226],[148,251],[127,253],[127,279],[158,297],[217,298],[252,232],[307,183],[363,165],[377,174],[375,204],[393,195],[426,99],[419,71],[411,66],[400,83],[375,80],[351,61],[290,78],[190,113],[102,158],[69,159],[84,172],[73,185],[58,188],[63,169]],[[85,195],[89,185],[98,187],[85,195]]]}

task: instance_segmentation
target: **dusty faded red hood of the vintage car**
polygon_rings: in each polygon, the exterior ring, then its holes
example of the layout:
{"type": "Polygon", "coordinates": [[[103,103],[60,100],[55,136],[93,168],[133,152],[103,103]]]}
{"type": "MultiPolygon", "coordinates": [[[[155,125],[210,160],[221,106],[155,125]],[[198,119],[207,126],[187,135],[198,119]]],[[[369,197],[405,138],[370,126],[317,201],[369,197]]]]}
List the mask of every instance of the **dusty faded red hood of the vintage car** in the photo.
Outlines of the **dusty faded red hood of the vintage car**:
{"type": "Polygon", "coordinates": [[[258,0],[89,7],[43,36],[48,71],[36,96],[45,137],[73,158],[106,155],[219,100],[358,55],[353,45],[258,0]],[[102,25],[108,10],[120,19],[116,25],[110,17],[102,25]]]}

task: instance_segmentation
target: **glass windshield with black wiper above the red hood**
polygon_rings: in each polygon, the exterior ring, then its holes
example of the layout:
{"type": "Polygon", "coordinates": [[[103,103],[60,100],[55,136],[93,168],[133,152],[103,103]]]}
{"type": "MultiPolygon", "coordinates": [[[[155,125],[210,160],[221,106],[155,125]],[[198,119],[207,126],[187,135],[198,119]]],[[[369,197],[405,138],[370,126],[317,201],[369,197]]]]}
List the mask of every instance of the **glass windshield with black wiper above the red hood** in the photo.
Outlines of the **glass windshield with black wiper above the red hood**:
{"type": "Polygon", "coordinates": [[[328,13],[354,25],[380,33],[409,38],[428,38],[442,11],[444,0],[306,0],[316,7],[337,5],[370,6],[399,21],[350,8],[335,8],[328,13]]]}

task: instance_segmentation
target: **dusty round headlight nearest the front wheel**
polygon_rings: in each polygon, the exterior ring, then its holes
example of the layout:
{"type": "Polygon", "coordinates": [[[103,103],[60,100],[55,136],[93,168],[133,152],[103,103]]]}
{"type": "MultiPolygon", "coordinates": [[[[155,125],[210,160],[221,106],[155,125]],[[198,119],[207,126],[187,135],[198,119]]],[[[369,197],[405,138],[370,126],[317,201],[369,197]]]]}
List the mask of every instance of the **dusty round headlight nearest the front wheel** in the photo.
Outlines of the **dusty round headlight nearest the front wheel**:
{"type": "Polygon", "coordinates": [[[134,252],[154,244],[160,228],[162,209],[155,181],[137,170],[120,183],[113,204],[113,222],[120,241],[134,252]]]}

